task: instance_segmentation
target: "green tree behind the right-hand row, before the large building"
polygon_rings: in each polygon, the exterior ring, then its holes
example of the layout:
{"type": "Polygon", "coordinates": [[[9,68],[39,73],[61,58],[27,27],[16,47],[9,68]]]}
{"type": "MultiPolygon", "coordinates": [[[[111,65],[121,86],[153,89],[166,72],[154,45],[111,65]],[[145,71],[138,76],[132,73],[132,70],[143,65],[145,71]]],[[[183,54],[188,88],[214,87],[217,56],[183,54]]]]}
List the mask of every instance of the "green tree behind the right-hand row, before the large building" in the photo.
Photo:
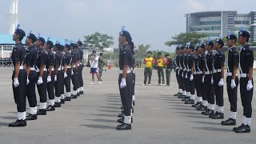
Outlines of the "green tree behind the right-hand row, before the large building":
{"type": "Polygon", "coordinates": [[[178,44],[186,45],[186,42],[191,42],[195,45],[200,42],[201,38],[206,38],[206,34],[198,34],[195,32],[176,34],[172,37],[171,41],[165,42],[166,46],[174,46],[178,44]]]}

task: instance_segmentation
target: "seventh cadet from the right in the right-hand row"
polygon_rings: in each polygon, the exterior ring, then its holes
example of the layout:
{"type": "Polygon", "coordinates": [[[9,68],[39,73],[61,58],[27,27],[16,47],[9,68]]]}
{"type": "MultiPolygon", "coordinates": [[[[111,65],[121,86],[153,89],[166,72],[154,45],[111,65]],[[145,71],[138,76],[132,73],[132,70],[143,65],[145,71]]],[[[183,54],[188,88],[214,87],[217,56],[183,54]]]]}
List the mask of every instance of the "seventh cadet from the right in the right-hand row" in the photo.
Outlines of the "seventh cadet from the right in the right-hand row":
{"type": "Polygon", "coordinates": [[[187,58],[186,58],[186,82],[188,86],[188,96],[186,98],[185,104],[194,104],[194,46],[187,43],[187,58]]]}

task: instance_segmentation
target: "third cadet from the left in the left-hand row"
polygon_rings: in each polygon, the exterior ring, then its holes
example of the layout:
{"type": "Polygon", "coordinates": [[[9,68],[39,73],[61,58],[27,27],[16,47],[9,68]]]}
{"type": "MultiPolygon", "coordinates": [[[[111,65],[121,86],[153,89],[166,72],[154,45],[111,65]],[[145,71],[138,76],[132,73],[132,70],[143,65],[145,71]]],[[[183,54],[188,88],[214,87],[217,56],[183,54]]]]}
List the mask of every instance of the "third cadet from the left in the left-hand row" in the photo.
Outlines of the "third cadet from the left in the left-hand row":
{"type": "Polygon", "coordinates": [[[40,105],[38,110],[38,115],[46,115],[47,108],[47,71],[46,71],[46,52],[43,50],[45,44],[45,39],[38,36],[35,46],[38,49],[38,60],[36,62],[35,71],[37,72],[37,87],[38,94],[40,97],[40,105]]]}

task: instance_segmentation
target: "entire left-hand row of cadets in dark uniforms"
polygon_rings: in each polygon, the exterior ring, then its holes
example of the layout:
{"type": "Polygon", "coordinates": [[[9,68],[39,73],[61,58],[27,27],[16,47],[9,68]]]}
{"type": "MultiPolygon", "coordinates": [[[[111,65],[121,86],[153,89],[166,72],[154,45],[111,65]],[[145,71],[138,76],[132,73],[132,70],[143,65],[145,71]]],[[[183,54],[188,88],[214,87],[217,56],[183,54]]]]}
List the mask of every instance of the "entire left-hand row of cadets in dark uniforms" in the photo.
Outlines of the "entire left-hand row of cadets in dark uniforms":
{"type": "Polygon", "coordinates": [[[14,32],[13,40],[16,45],[11,56],[14,64],[12,80],[18,120],[10,123],[9,126],[26,126],[26,120],[36,120],[38,115],[46,115],[46,111],[53,111],[55,107],[61,107],[65,101],[83,94],[81,41],[71,42],[65,46],[58,42],[54,45],[50,38],[45,41],[40,35],[36,37],[30,33],[26,36],[24,30],[18,27],[14,32]],[[26,48],[22,44],[22,39],[25,37],[26,48]],[[72,91],[70,79],[74,85],[72,91]],[[40,98],[39,107],[37,107],[36,85],[40,98]],[[28,115],[26,115],[26,97],[30,106],[28,115]]]}

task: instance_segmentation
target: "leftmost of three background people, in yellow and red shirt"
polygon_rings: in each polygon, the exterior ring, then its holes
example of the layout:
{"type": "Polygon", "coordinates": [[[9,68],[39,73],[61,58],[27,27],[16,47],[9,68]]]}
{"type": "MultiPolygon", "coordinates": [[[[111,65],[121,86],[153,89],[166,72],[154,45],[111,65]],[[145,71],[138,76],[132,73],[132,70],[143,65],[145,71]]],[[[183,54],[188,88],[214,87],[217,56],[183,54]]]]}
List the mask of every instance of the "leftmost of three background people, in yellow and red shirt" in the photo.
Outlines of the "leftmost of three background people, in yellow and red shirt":
{"type": "Polygon", "coordinates": [[[151,76],[152,76],[152,68],[153,68],[153,62],[154,58],[151,57],[152,52],[149,51],[147,53],[147,57],[144,58],[144,64],[145,64],[145,70],[144,70],[144,83],[143,86],[146,85],[147,77],[149,77],[149,86],[151,85],[151,76]]]}

